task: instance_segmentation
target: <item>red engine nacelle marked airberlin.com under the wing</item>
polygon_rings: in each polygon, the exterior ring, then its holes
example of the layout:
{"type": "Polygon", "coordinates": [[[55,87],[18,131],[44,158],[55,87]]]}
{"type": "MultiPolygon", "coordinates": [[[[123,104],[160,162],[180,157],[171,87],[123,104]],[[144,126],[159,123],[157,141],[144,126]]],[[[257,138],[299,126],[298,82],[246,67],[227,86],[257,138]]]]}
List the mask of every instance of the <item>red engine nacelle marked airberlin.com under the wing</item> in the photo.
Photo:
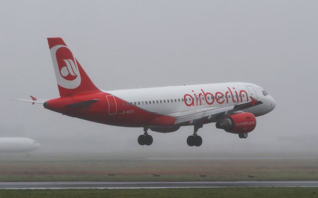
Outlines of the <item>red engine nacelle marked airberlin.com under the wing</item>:
{"type": "Polygon", "coordinates": [[[232,114],[217,122],[216,127],[229,133],[249,133],[256,127],[256,118],[252,113],[232,114]]]}

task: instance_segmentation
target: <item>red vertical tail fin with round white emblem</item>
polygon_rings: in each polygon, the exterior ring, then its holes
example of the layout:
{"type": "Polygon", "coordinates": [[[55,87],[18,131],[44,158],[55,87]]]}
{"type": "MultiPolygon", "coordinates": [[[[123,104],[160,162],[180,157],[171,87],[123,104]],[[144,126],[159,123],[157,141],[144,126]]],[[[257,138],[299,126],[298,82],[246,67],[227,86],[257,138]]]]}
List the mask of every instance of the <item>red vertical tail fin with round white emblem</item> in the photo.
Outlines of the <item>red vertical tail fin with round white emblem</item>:
{"type": "Polygon", "coordinates": [[[48,38],[60,96],[99,92],[62,38],[48,38]]]}

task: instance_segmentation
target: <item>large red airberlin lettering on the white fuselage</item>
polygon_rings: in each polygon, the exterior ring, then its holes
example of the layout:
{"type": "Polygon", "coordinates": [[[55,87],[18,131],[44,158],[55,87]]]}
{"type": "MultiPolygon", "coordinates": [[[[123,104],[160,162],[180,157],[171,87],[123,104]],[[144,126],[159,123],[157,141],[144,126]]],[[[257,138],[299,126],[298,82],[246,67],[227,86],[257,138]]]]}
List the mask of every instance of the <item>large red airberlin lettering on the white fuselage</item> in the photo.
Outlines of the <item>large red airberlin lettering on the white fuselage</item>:
{"type": "Polygon", "coordinates": [[[200,93],[195,93],[194,90],[192,90],[191,94],[185,94],[183,96],[183,101],[185,105],[187,106],[194,106],[194,105],[203,105],[203,104],[209,104],[212,105],[213,103],[223,104],[223,103],[229,103],[229,102],[242,102],[243,100],[246,100],[248,102],[247,92],[245,90],[239,90],[237,91],[235,88],[230,89],[227,88],[228,91],[224,92],[216,92],[216,93],[210,93],[205,92],[203,89],[201,89],[200,93]]]}

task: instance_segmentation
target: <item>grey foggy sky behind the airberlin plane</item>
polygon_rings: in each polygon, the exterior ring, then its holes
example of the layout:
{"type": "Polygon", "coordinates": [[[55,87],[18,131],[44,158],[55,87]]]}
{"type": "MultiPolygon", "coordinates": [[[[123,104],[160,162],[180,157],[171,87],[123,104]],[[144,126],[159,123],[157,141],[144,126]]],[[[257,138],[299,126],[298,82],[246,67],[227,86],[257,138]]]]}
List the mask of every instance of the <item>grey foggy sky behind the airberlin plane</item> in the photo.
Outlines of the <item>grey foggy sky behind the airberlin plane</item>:
{"type": "Polygon", "coordinates": [[[30,137],[41,151],[314,152],[317,131],[318,1],[0,1],[0,136],[30,137]],[[62,37],[104,90],[250,82],[277,102],[245,140],[204,125],[151,132],[96,124],[11,98],[59,96],[47,37],[62,37]]]}

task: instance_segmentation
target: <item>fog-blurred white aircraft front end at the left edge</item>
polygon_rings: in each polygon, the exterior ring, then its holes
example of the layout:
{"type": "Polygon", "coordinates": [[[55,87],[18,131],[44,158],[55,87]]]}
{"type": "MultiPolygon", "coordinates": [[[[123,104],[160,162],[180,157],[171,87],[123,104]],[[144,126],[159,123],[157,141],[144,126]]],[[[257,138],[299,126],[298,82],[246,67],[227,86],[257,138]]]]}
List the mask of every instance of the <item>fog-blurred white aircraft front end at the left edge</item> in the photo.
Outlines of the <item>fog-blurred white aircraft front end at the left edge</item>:
{"type": "Polygon", "coordinates": [[[40,147],[29,138],[0,138],[0,152],[30,152],[40,147]]]}

